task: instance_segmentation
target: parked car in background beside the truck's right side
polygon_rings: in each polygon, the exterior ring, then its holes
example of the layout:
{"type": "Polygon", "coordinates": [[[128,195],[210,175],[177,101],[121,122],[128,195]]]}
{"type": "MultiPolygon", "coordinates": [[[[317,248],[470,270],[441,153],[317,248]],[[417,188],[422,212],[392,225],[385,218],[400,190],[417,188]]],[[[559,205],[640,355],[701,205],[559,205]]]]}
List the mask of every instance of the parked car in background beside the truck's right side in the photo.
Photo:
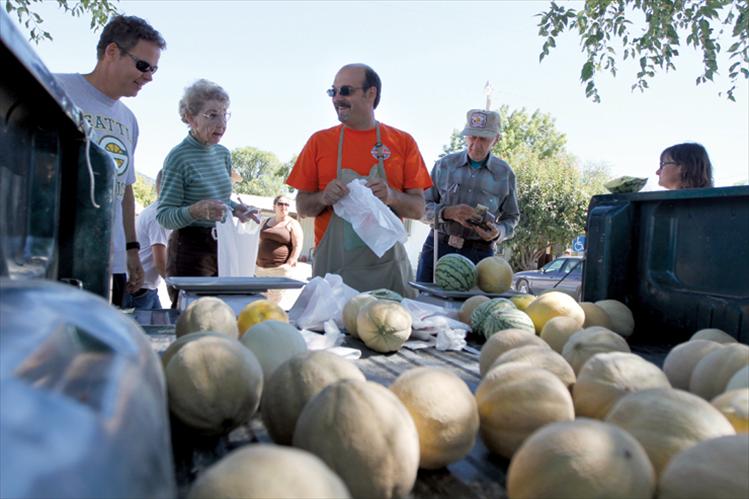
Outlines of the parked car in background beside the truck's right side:
{"type": "Polygon", "coordinates": [[[516,272],[515,291],[538,295],[556,289],[580,301],[582,298],[583,257],[560,256],[538,270],[516,272]]]}

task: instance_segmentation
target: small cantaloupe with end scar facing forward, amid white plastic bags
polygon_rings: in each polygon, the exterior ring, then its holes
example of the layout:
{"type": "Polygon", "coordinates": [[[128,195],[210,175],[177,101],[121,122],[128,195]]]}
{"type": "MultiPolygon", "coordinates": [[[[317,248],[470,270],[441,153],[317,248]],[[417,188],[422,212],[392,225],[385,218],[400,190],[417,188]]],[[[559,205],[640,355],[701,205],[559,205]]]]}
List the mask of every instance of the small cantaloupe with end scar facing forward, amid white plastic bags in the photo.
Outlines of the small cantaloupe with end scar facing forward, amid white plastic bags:
{"type": "Polygon", "coordinates": [[[359,338],[375,352],[395,352],[411,336],[411,314],[400,303],[376,300],[356,316],[359,338]]]}

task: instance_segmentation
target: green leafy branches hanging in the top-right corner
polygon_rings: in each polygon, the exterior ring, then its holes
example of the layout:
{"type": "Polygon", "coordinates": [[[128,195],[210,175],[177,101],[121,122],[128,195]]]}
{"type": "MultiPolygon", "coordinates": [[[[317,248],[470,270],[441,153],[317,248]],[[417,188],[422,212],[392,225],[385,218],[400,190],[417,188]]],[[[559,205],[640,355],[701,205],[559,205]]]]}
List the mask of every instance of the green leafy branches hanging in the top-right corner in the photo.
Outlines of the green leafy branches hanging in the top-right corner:
{"type": "MultiPolygon", "coordinates": [[[[582,9],[551,2],[538,14],[538,34],[544,38],[539,59],[556,47],[559,36],[576,31],[586,61],[580,71],[585,96],[600,102],[596,87],[599,72],[617,73],[617,48],[623,60],[637,60],[639,70],[632,89],[644,91],[656,71],[675,70],[682,36],[686,46],[702,52],[704,71],[696,83],[712,81],[718,74],[719,40],[730,37],[728,99],[735,101],[737,80],[749,79],[749,0],[585,0],[582,9]],[[645,27],[634,33],[635,16],[644,16],[645,27]]],[[[637,19],[638,25],[639,19],[637,19]]]]}

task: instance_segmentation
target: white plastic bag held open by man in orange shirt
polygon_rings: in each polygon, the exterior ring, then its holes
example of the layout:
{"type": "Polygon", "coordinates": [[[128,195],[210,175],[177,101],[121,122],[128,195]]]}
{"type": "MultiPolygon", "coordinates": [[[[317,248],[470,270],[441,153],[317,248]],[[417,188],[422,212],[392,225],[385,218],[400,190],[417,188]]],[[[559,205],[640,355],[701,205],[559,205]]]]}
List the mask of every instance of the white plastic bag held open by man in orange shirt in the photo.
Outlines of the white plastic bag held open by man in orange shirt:
{"type": "Polygon", "coordinates": [[[375,255],[381,257],[395,243],[405,243],[403,222],[366,187],[366,179],[348,183],[349,193],[333,205],[335,214],[351,224],[375,255]]]}

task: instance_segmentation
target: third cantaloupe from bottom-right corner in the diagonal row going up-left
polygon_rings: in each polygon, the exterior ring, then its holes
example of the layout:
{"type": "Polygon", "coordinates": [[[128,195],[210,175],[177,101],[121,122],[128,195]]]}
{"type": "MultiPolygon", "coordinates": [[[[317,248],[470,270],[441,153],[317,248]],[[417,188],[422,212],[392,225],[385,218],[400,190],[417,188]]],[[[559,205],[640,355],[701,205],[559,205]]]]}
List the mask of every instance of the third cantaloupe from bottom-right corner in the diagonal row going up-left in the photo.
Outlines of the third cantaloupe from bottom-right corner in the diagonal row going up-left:
{"type": "Polygon", "coordinates": [[[604,419],[621,397],[648,388],[670,388],[655,364],[627,352],[598,353],[589,358],[572,390],[575,416],[604,419]]]}

